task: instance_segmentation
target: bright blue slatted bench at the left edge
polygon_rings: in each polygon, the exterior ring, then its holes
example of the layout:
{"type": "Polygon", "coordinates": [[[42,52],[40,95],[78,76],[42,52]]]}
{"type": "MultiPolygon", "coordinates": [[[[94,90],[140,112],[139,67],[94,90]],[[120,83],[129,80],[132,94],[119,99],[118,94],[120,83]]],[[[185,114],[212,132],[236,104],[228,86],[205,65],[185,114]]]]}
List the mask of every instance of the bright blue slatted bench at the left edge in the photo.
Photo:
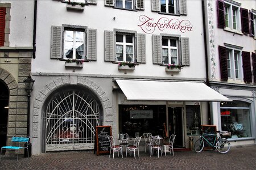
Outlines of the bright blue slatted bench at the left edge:
{"type": "MultiPolygon", "coordinates": [[[[20,149],[26,149],[27,148],[27,153],[28,153],[28,147],[24,147],[24,143],[27,143],[28,141],[30,141],[30,138],[28,137],[13,137],[11,138],[11,145],[10,146],[3,146],[1,147],[1,154],[0,154],[0,159],[2,156],[2,150],[11,150],[11,151],[19,151],[20,149]]],[[[30,157],[30,155],[28,154],[28,157],[30,157]]],[[[17,156],[17,161],[19,158],[19,152],[18,152],[18,156],[17,156]]]]}

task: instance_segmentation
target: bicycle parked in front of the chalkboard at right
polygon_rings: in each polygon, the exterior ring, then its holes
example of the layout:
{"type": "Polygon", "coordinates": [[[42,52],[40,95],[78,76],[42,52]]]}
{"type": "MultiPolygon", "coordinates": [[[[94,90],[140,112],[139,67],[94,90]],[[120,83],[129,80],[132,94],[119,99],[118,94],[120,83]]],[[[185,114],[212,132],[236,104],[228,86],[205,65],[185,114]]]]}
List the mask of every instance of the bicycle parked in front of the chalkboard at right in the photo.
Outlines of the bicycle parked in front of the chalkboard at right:
{"type": "MultiPolygon", "coordinates": [[[[226,132],[225,132],[226,133],[226,132]]],[[[212,148],[213,150],[216,148],[216,150],[218,152],[220,152],[221,154],[225,154],[226,152],[228,152],[230,150],[230,143],[229,141],[226,139],[228,138],[228,136],[226,136],[224,138],[224,132],[220,132],[217,131],[217,134],[207,134],[207,133],[203,133],[200,138],[195,142],[194,145],[194,150],[199,153],[201,151],[203,151],[204,149],[204,143],[207,142],[212,148]],[[213,143],[211,143],[206,136],[210,136],[214,139],[213,143]]]]}

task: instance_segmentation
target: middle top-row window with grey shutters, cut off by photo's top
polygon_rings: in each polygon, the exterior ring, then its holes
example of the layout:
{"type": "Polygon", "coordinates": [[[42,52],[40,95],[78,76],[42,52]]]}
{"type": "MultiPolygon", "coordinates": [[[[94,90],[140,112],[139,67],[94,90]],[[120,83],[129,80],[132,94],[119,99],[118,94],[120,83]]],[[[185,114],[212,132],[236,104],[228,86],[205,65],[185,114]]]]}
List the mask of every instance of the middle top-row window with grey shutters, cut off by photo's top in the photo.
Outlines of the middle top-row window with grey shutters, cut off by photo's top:
{"type": "Polygon", "coordinates": [[[127,10],[144,10],[144,0],[105,0],[105,6],[127,10]]]}

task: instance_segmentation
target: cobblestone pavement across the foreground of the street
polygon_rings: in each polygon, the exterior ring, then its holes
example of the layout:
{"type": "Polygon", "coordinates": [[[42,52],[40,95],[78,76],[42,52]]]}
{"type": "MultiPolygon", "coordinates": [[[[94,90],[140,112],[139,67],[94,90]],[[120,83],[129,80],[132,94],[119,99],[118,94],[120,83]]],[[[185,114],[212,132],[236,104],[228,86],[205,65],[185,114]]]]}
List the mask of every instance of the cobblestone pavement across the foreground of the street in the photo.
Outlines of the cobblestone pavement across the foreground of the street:
{"type": "Polygon", "coordinates": [[[151,158],[148,151],[140,151],[140,158],[134,156],[122,158],[115,154],[97,156],[93,151],[47,152],[32,155],[31,158],[16,155],[2,156],[0,169],[256,169],[256,145],[231,147],[227,154],[215,151],[179,151],[174,156],[151,158]]]}

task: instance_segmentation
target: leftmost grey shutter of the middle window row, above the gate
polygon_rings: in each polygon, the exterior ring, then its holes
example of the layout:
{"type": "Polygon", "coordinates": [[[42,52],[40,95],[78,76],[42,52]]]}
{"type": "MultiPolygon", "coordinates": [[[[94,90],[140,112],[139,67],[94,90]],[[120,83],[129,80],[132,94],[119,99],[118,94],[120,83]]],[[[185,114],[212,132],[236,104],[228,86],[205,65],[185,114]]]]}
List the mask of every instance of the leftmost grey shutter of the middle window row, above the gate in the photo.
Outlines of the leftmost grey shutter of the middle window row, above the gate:
{"type": "Polygon", "coordinates": [[[51,58],[61,58],[61,27],[51,27],[51,58]]]}

